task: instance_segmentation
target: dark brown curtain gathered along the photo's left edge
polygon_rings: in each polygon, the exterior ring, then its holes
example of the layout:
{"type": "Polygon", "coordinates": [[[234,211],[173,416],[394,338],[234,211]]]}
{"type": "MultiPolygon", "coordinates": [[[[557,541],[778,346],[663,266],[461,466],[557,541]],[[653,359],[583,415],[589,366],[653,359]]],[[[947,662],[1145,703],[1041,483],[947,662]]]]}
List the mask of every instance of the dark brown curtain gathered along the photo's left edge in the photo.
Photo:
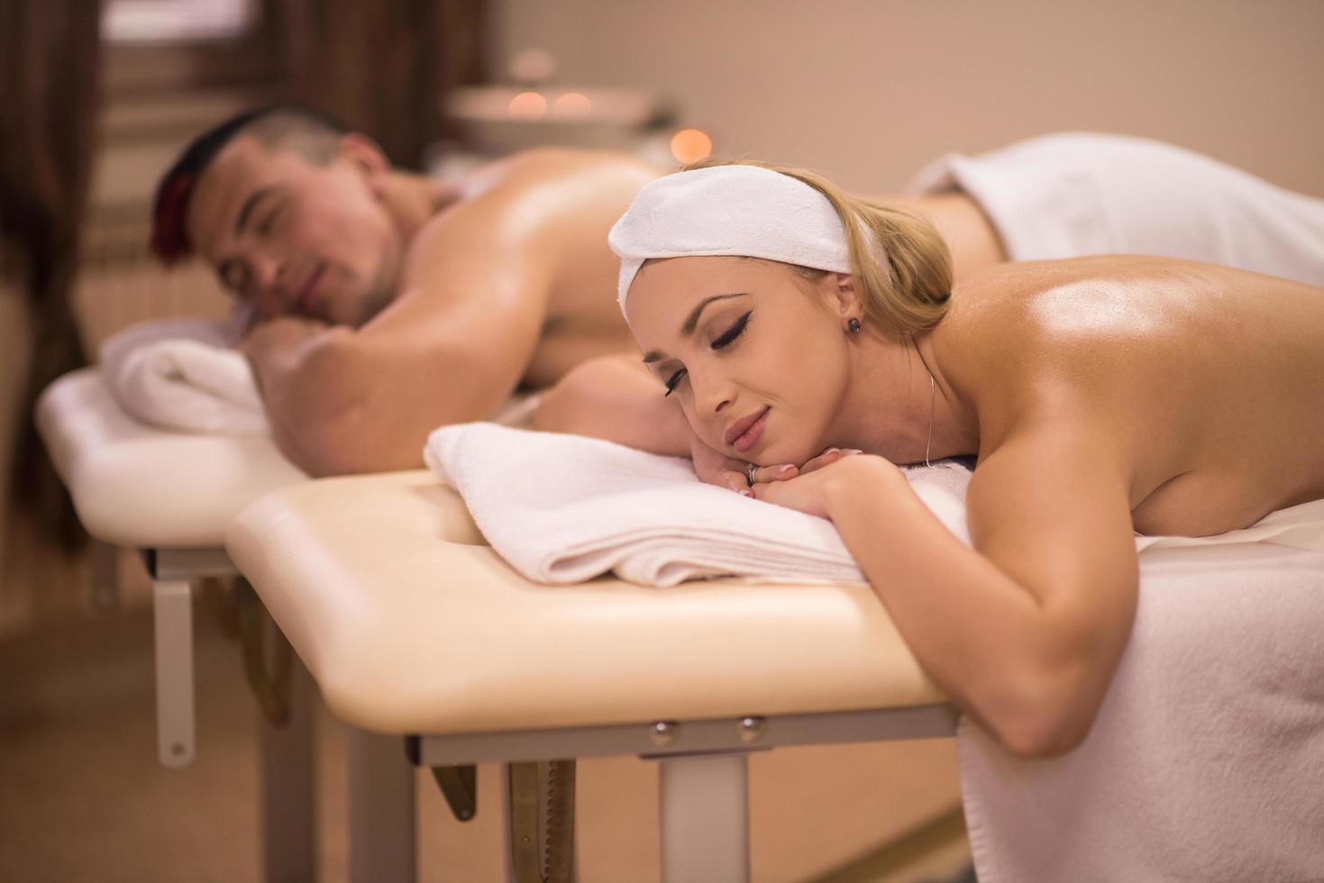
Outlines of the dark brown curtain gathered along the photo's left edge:
{"type": "Polygon", "coordinates": [[[97,134],[99,25],[97,0],[0,0],[0,261],[28,294],[34,343],[11,483],[70,547],[82,532],[32,406],[46,384],[87,364],[71,293],[97,134]]]}

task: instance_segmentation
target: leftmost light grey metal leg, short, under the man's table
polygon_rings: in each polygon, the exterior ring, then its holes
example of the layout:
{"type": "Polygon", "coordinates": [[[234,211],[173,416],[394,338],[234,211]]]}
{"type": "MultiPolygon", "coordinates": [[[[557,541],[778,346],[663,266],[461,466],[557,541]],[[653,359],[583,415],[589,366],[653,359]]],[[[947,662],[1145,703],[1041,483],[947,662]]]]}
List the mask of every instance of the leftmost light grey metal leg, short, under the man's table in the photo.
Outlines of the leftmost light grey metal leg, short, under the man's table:
{"type": "Polygon", "coordinates": [[[193,597],[187,579],[152,580],[156,633],[156,752],[163,767],[193,763],[193,597]]]}

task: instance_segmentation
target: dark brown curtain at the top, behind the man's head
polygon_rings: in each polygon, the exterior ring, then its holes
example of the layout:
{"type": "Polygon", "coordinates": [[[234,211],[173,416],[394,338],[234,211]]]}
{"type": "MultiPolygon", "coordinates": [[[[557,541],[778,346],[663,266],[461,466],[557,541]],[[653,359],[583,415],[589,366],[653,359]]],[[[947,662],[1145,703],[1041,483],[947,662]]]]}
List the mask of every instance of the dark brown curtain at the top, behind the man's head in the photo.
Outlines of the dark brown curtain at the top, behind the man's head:
{"type": "Polygon", "coordinates": [[[418,168],[445,135],[442,95],[479,82],[482,0],[267,0],[291,98],[418,168]]]}

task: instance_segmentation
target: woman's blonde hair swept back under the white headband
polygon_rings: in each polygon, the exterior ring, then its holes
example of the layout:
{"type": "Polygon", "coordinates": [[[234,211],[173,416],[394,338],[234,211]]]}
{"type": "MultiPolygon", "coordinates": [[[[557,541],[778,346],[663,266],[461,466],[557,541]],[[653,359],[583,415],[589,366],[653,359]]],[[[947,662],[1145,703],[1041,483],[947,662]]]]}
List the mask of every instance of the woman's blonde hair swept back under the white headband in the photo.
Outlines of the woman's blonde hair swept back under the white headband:
{"type": "MultiPolygon", "coordinates": [[[[933,224],[904,209],[862,200],[800,168],[751,159],[702,159],[685,171],[712,165],[755,165],[802,181],[826,197],[846,229],[851,274],[865,314],[896,331],[925,331],[947,314],[952,297],[952,257],[933,224]],[[875,250],[876,249],[876,250],[875,250]],[[886,266],[879,261],[886,257],[886,266]]],[[[796,270],[812,281],[826,270],[796,270]]]]}

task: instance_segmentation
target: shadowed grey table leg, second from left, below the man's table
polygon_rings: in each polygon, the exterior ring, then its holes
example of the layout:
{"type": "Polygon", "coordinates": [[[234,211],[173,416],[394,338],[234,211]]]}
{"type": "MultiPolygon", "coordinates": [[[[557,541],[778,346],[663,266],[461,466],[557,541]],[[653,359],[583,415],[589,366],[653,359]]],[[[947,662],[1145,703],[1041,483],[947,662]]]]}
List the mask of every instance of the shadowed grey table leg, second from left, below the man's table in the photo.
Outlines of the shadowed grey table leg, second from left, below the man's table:
{"type": "Polygon", "coordinates": [[[316,879],[314,814],[312,678],[293,663],[289,716],[258,715],[262,786],[262,870],[266,883],[316,879]]]}

